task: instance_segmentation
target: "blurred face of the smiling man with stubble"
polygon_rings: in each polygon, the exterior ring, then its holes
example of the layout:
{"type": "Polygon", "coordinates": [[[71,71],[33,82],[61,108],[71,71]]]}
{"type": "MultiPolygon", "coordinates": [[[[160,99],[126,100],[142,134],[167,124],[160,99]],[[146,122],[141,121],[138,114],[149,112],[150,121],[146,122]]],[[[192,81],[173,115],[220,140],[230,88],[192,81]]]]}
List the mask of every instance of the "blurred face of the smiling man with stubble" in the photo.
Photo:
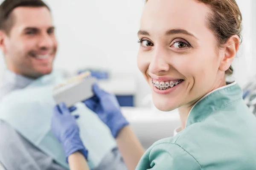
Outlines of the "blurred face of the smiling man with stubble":
{"type": "Polygon", "coordinates": [[[10,33],[1,40],[7,68],[33,78],[50,74],[58,47],[50,11],[46,7],[17,7],[12,17],[10,33]]]}

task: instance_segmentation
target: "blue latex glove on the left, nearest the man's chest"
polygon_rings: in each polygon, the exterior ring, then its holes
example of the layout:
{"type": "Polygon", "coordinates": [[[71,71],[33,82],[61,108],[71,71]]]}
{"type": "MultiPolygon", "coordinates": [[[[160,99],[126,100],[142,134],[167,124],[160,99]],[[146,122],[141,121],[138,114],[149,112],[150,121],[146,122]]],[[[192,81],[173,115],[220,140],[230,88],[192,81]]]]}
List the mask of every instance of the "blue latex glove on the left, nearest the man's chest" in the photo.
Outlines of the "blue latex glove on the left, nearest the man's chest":
{"type": "Polygon", "coordinates": [[[79,127],[76,124],[76,119],[79,116],[72,116],[70,113],[74,110],[76,110],[75,107],[68,109],[64,103],[56,105],[52,116],[52,132],[61,142],[66,158],[72,153],[80,151],[87,159],[88,151],[80,139],[79,127]]]}

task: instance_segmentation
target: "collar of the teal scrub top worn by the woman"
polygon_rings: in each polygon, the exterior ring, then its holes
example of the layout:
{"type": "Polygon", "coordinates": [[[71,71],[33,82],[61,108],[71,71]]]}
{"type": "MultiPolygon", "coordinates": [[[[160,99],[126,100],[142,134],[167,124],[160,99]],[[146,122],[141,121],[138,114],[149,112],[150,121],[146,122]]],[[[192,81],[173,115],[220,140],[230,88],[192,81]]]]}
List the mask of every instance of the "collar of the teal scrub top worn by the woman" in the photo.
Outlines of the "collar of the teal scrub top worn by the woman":
{"type": "Polygon", "coordinates": [[[239,99],[242,99],[242,90],[236,82],[211,91],[198,100],[192,107],[188,115],[186,127],[197,122],[202,122],[213,112],[239,99]]]}

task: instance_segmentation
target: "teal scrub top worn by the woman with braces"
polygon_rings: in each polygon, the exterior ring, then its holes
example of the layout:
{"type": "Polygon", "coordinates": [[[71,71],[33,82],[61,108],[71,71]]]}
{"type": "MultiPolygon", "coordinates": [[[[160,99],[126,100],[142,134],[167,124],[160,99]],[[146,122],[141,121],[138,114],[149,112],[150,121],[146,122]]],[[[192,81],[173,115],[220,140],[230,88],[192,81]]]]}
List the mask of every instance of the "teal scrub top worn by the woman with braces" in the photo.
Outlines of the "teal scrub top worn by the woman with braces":
{"type": "Polygon", "coordinates": [[[256,117],[236,82],[200,99],[186,128],[155,142],[136,170],[256,170],[256,117]]]}

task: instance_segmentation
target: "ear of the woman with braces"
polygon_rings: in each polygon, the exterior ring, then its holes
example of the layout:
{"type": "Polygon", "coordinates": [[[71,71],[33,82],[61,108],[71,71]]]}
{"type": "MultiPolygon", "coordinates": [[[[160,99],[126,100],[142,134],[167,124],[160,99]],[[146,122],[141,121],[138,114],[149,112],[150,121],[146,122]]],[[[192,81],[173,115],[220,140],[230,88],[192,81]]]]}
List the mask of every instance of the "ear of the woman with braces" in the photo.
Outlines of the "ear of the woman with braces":
{"type": "Polygon", "coordinates": [[[231,36],[224,45],[224,57],[221,60],[221,64],[219,67],[220,71],[227,71],[230,68],[233,60],[236,57],[236,53],[239,49],[239,36],[233,35],[231,36]]]}

